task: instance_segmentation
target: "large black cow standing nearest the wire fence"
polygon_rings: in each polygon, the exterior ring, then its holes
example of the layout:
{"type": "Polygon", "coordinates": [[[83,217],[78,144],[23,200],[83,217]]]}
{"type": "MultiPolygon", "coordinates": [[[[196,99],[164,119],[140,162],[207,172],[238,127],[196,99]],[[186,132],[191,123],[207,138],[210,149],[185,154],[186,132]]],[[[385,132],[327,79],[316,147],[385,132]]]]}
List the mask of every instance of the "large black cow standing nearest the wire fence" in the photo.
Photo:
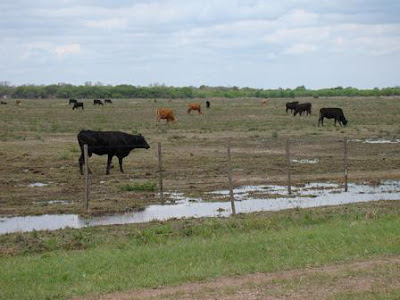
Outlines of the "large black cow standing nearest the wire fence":
{"type": "MultiPolygon", "coordinates": [[[[106,175],[110,174],[111,160],[118,157],[119,169],[123,173],[122,159],[129,155],[135,148],[149,149],[150,146],[142,135],[132,135],[121,131],[92,131],[82,130],[78,133],[78,143],[81,148],[79,157],[79,170],[83,175],[84,154],[83,145],[88,145],[88,155],[108,155],[106,175]]],[[[89,172],[91,172],[89,170],[89,172]]]]}

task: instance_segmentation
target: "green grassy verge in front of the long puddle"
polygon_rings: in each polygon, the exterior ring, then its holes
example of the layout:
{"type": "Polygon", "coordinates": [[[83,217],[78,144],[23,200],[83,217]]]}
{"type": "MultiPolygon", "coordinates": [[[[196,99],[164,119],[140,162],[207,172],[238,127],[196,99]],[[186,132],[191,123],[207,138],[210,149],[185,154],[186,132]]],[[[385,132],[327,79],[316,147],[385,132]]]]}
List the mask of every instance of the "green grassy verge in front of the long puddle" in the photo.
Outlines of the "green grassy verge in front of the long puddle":
{"type": "MultiPolygon", "coordinates": [[[[324,297],[309,299],[327,299],[327,295],[330,299],[396,299],[400,294],[396,280],[400,275],[399,214],[399,201],[380,201],[224,219],[3,235],[0,299],[97,299],[99,294],[117,291],[296,269],[300,275],[306,269],[308,273],[302,277],[278,274],[269,284],[279,289],[266,289],[259,280],[253,280],[250,287],[233,281],[208,299],[290,298],[294,292],[306,297],[307,286],[309,293],[318,289],[322,293],[326,288],[324,297]],[[367,269],[354,266],[354,262],[386,259],[380,267],[372,263],[367,269]],[[343,266],[335,268],[336,272],[328,268],[319,275],[310,273],[313,268],[338,263],[343,266]],[[370,284],[362,289],[339,284],[355,279],[370,284]],[[261,295],[229,296],[249,288],[261,295]]],[[[210,289],[193,299],[207,293],[210,289]]],[[[123,299],[138,298],[142,297],[123,299]]]]}

